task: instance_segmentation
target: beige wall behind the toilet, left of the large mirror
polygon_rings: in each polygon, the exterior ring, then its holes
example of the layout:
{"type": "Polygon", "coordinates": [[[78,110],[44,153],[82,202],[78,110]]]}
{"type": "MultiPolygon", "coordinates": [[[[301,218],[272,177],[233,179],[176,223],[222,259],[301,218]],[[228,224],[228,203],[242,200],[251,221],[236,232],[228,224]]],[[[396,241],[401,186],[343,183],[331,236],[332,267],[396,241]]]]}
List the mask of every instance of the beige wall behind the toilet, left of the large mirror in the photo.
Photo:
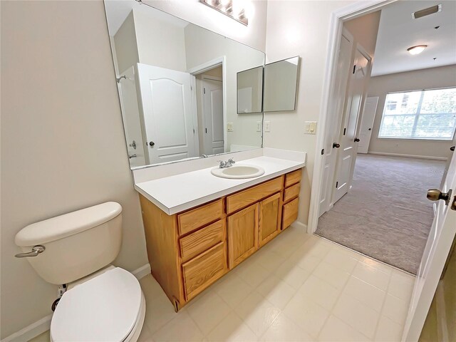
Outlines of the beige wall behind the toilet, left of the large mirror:
{"type": "Polygon", "coordinates": [[[147,263],[114,77],[102,1],[1,1],[1,338],[51,314],[57,295],[14,258],[27,224],[117,201],[115,264],[147,263]]]}

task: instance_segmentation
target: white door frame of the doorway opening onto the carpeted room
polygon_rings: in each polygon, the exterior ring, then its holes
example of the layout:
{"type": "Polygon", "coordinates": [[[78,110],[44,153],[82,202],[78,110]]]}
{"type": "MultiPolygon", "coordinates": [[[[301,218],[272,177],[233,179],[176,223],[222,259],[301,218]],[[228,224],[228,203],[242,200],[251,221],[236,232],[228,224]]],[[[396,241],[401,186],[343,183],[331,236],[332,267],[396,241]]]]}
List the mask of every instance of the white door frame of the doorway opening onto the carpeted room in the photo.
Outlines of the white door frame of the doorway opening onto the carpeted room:
{"type": "MultiPolygon", "coordinates": [[[[331,21],[328,33],[328,55],[326,57],[326,73],[323,82],[323,95],[321,97],[320,105],[320,132],[316,135],[316,149],[315,149],[315,164],[314,164],[314,178],[311,187],[311,201],[309,208],[309,219],[307,224],[307,232],[313,234],[318,225],[318,209],[321,197],[321,182],[323,180],[324,163],[321,156],[321,150],[325,147],[326,136],[328,132],[328,121],[335,120],[334,113],[331,113],[332,103],[331,94],[334,91],[336,83],[336,71],[338,61],[338,49],[341,41],[343,30],[343,22],[350,19],[355,19],[365,14],[370,14],[373,11],[381,9],[383,6],[392,4],[397,0],[369,0],[357,1],[354,4],[345,6],[342,9],[333,11],[331,13],[331,21]]],[[[336,115],[343,115],[343,113],[336,113],[336,115]]],[[[339,118],[337,118],[339,119],[339,118]]]]}

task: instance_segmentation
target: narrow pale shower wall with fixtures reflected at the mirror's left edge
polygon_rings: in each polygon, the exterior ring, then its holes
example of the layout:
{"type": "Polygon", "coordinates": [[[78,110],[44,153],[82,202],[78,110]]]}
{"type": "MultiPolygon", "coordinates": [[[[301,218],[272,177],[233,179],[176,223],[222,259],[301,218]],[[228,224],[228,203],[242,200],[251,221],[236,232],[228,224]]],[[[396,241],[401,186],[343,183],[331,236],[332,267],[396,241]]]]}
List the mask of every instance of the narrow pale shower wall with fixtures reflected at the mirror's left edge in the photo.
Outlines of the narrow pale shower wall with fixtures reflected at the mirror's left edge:
{"type": "Polygon", "coordinates": [[[118,83],[120,93],[120,107],[122,108],[125,139],[127,140],[130,167],[149,164],[148,155],[145,154],[142,139],[140,110],[136,93],[135,68],[133,66],[124,71],[118,83]]]}

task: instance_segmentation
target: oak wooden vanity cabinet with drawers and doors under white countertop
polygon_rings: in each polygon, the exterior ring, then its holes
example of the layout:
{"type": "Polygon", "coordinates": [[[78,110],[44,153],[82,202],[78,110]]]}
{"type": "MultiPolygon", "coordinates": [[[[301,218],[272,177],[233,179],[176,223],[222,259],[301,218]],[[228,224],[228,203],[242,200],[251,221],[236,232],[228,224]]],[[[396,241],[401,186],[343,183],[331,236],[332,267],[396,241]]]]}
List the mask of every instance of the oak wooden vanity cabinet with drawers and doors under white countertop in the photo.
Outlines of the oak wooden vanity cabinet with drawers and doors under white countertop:
{"type": "Polygon", "coordinates": [[[152,276],[175,311],[296,220],[301,172],[173,215],[140,195],[152,276]]]}

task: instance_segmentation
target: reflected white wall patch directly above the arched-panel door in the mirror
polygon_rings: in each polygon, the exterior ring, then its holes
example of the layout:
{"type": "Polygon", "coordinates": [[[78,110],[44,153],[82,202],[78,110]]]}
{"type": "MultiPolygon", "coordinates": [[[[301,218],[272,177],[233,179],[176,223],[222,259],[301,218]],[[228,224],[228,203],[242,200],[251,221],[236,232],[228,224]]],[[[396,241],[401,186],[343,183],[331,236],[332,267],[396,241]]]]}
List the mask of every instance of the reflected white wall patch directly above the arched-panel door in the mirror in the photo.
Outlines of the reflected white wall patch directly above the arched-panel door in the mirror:
{"type": "Polygon", "coordinates": [[[133,10],[140,63],[187,71],[184,28],[152,19],[147,16],[146,10],[152,11],[150,8],[133,10]]]}

